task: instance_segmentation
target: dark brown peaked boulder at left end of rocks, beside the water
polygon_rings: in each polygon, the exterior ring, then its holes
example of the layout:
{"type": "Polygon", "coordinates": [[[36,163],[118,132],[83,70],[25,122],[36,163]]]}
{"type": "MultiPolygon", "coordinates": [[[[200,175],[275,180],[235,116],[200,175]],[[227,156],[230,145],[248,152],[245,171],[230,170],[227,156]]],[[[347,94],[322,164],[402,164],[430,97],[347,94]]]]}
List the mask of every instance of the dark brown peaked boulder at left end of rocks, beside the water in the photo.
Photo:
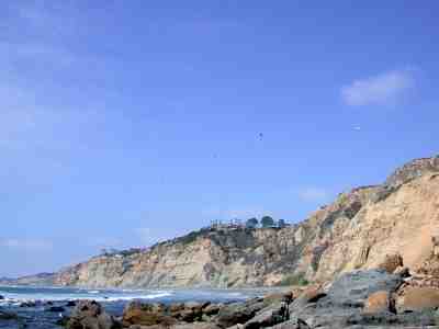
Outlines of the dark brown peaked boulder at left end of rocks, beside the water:
{"type": "Polygon", "coordinates": [[[66,324],[68,329],[120,329],[121,325],[94,300],[80,300],[66,324]]]}

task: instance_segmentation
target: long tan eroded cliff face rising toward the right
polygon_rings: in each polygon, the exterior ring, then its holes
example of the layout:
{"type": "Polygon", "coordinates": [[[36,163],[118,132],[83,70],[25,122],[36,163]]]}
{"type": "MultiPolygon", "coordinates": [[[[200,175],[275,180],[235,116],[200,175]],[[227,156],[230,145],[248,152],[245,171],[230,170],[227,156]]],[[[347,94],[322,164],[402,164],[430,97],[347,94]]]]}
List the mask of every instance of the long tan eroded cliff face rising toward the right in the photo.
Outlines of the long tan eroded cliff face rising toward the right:
{"type": "Polygon", "coordinates": [[[303,274],[327,281],[401,253],[416,268],[439,236],[439,158],[414,160],[382,185],[341,193],[282,229],[204,229],[131,254],[101,256],[60,271],[55,284],[89,287],[273,285],[303,274]]]}

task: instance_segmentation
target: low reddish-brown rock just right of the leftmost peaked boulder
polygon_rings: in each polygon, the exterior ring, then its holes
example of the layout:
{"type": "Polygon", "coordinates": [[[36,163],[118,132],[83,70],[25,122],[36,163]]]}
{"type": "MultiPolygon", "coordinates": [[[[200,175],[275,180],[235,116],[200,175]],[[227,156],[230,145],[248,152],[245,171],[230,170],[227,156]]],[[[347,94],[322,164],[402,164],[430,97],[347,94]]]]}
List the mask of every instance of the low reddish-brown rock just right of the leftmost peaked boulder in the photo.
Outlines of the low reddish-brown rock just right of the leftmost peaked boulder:
{"type": "Polygon", "coordinates": [[[177,320],[173,317],[166,315],[166,307],[162,304],[132,302],[124,309],[122,324],[125,327],[130,327],[131,325],[172,326],[177,324],[177,320]]]}

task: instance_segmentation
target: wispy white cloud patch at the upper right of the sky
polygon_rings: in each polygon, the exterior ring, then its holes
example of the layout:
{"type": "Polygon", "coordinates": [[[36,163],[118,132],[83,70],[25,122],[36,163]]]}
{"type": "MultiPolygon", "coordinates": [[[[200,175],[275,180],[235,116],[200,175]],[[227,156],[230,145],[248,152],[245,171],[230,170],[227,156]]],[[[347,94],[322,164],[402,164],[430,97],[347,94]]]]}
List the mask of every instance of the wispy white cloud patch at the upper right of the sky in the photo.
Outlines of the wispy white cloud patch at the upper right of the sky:
{"type": "Polygon", "coordinates": [[[350,106],[390,104],[399,101],[414,87],[414,70],[392,70],[344,86],[341,98],[350,106]]]}

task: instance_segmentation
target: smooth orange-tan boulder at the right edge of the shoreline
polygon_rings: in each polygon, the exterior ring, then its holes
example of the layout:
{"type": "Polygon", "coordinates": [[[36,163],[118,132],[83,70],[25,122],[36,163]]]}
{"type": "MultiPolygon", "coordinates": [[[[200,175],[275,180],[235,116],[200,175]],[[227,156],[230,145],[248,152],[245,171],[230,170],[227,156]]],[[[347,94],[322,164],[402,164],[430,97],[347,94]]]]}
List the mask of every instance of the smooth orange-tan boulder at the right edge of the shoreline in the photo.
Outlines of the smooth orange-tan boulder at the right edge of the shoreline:
{"type": "Polygon", "coordinates": [[[429,310],[439,307],[439,290],[432,287],[408,287],[397,299],[397,311],[429,310]]]}

